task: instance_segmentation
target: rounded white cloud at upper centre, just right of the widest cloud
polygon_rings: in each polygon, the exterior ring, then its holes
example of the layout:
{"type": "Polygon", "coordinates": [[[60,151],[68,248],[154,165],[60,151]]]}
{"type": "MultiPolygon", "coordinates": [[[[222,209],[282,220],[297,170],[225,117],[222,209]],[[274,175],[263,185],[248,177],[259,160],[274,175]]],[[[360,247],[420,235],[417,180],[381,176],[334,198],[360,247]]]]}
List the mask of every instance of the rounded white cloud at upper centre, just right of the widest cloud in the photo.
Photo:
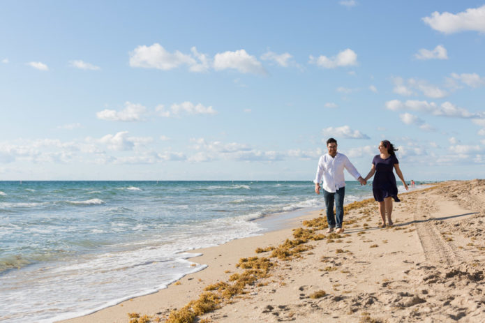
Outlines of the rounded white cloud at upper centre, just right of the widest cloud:
{"type": "Polygon", "coordinates": [[[216,70],[234,69],[241,73],[266,74],[266,70],[264,70],[260,61],[248,54],[246,50],[216,54],[214,68],[216,70]]]}

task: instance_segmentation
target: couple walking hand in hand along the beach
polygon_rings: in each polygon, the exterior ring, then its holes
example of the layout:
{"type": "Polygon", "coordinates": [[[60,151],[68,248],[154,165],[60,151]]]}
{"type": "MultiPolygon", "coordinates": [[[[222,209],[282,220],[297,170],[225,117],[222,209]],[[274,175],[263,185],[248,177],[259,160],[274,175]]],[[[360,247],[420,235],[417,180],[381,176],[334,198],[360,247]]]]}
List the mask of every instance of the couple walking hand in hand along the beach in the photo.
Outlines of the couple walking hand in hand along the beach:
{"type": "Polygon", "coordinates": [[[379,154],[375,155],[372,160],[371,171],[368,172],[366,178],[363,178],[357,169],[350,163],[350,160],[343,153],[337,152],[337,141],[334,138],[327,140],[327,150],[318,160],[317,174],[315,176],[315,193],[320,194],[320,188],[323,188],[323,197],[325,201],[325,208],[327,209],[327,222],[329,229],[327,233],[343,232],[343,197],[345,195],[345,178],[343,170],[347,170],[352,176],[360,182],[361,185],[366,185],[367,180],[374,176],[372,183],[372,190],[374,199],[379,203],[379,213],[382,218],[380,227],[393,225],[391,219],[392,213],[392,199],[400,202],[397,196],[398,189],[396,185],[396,177],[394,177],[393,169],[396,169],[396,174],[403,182],[404,188],[408,190],[408,185],[404,181],[403,173],[399,169],[399,161],[396,157],[397,149],[388,140],[383,140],[379,144],[379,154]],[[320,182],[323,179],[323,184],[320,182]],[[336,214],[334,214],[334,204],[336,214]]]}

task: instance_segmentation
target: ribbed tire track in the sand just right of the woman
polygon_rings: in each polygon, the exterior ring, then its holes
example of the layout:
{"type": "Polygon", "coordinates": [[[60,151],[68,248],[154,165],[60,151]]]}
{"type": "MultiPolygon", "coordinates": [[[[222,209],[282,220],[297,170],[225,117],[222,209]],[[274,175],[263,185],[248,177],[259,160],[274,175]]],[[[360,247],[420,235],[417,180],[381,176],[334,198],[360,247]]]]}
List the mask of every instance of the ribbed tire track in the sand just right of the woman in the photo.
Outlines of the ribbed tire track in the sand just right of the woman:
{"type": "Polygon", "coordinates": [[[422,196],[417,197],[413,216],[424,256],[428,262],[445,265],[459,264],[463,260],[460,250],[452,241],[446,241],[443,238],[435,225],[436,219],[428,218],[433,207],[431,200],[422,196]]]}

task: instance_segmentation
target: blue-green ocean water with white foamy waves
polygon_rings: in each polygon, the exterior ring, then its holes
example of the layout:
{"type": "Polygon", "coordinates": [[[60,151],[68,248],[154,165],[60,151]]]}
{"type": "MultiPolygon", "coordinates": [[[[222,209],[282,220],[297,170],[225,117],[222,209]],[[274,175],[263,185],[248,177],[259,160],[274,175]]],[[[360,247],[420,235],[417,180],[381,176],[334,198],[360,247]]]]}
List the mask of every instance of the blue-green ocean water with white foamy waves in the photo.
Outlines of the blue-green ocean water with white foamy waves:
{"type": "MultiPolygon", "coordinates": [[[[311,181],[0,181],[0,322],[54,322],[204,269],[188,250],[324,208],[311,181]],[[286,214],[288,216],[288,214],[286,214]]],[[[349,181],[345,203],[371,197],[349,181]]]]}

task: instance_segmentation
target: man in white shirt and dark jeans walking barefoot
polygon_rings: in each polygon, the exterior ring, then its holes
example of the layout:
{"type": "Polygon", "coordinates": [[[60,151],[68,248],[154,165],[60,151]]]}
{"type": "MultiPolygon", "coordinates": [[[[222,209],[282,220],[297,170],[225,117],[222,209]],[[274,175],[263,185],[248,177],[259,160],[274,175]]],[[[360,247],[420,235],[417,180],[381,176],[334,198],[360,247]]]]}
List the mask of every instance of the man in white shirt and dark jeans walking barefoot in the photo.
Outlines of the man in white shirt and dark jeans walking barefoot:
{"type": "Polygon", "coordinates": [[[337,141],[334,138],[327,140],[328,153],[325,153],[318,160],[317,175],[315,176],[315,193],[320,194],[320,181],[323,176],[323,197],[325,207],[327,208],[327,223],[329,230],[333,232],[336,227],[336,233],[343,232],[343,196],[345,195],[345,178],[343,169],[345,168],[352,176],[366,185],[366,181],[360,176],[354,165],[350,163],[349,158],[343,153],[337,152],[337,141]],[[334,202],[336,208],[336,218],[334,216],[334,202]]]}

